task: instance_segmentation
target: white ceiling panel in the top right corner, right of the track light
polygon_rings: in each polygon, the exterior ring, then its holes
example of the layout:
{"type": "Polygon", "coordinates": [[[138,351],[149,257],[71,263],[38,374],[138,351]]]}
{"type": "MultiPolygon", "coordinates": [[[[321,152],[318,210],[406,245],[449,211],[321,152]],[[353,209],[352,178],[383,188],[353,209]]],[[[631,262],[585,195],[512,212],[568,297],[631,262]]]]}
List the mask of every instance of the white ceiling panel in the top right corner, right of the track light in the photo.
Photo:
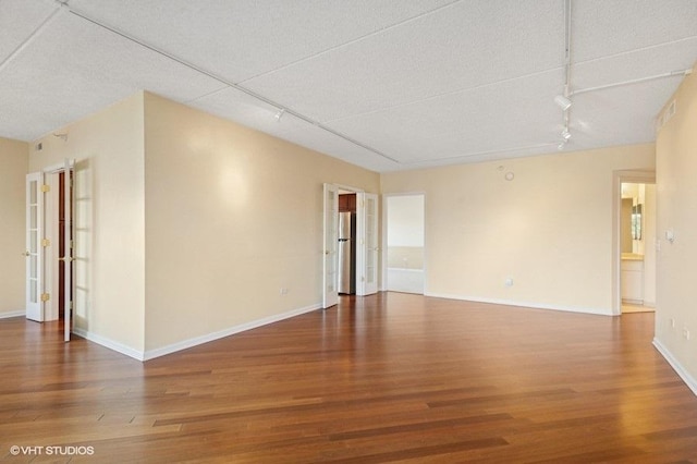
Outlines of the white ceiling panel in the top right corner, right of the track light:
{"type": "Polygon", "coordinates": [[[574,1],[574,63],[697,35],[694,0],[574,1]]]}

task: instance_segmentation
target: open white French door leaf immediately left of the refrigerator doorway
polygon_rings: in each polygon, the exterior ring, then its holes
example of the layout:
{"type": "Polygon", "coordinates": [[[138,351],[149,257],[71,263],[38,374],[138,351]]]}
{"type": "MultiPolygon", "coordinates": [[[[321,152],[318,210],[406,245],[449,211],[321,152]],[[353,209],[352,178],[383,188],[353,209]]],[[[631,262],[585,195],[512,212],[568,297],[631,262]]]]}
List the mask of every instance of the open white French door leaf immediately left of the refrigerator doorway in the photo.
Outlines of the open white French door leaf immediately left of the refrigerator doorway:
{"type": "Polygon", "coordinates": [[[337,185],[325,184],[323,224],[322,307],[328,308],[339,303],[339,290],[337,288],[339,188],[337,185]]]}

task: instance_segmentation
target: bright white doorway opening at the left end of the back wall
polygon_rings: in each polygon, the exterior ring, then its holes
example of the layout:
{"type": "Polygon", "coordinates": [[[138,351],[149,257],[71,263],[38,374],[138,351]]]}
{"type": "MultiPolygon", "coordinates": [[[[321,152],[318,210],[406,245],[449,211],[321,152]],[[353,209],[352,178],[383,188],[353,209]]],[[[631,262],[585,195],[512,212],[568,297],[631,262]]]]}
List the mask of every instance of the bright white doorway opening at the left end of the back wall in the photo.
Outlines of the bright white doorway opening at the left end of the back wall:
{"type": "Polygon", "coordinates": [[[386,196],[388,291],[424,294],[424,194],[386,196]]]}

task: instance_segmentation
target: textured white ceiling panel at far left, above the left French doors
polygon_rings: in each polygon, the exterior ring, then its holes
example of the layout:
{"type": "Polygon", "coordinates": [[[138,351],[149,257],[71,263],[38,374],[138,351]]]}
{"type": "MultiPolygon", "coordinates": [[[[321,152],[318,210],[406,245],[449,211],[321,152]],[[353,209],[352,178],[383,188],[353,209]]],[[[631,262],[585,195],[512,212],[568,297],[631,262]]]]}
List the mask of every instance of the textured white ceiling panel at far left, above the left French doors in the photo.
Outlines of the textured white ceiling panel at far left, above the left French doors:
{"type": "Polygon", "coordinates": [[[33,139],[142,89],[186,101],[221,86],[210,77],[61,12],[0,72],[0,87],[13,90],[0,94],[3,109],[0,135],[33,139]],[[25,120],[36,122],[22,125],[20,121],[25,120]]]}

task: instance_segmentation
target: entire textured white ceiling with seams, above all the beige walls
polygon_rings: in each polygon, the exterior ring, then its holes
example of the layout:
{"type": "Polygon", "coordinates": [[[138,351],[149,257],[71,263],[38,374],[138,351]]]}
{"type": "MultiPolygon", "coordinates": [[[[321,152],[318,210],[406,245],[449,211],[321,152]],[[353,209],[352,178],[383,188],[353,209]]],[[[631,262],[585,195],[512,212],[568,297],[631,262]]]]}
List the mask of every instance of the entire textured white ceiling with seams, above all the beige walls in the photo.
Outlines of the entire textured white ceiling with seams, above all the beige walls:
{"type": "MultiPolygon", "coordinates": [[[[564,4],[0,0],[0,136],[145,89],[380,172],[555,152],[564,4]]],[[[697,1],[571,5],[564,150],[653,141],[683,74],[631,82],[694,65],[697,1]]]]}

